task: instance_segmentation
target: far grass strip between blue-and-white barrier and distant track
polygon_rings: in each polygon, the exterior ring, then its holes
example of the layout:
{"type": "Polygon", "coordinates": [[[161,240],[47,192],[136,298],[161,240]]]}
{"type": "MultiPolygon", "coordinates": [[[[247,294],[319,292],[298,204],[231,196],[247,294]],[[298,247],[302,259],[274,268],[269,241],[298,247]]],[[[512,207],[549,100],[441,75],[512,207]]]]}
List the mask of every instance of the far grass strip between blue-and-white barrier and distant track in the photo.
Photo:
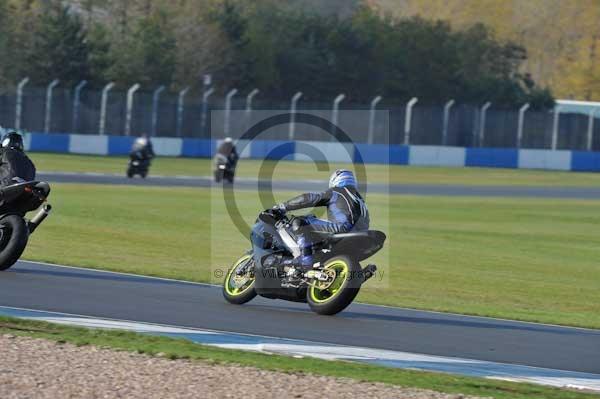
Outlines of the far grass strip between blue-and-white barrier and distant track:
{"type": "MultiPolygon", "coordinates": [[[[126,157],[100,157],[32,153],[31,158],[41,171],[125,173],[126,157]]],[[[261,167],[273,170],[275,179],[321,179],[327,180],[332,170],[351,165],[332,164],[318,170],[310,163],[242,159],[238,176],[256,177],[261,167]],[[299,167],[299,165],[301,167],[299,167]]],[[[155,175],[211,174],[211,161],[193,158],[158,157],[151,169],[155,175]]],[[[369,182],[391,182],[398,184],[466,184],[507,186],[600,186],[600,175],[595,173],[557,172],[542,170],[490,169],[490,168],[427,168],[414,166],[367,165],[369,182]]]]}

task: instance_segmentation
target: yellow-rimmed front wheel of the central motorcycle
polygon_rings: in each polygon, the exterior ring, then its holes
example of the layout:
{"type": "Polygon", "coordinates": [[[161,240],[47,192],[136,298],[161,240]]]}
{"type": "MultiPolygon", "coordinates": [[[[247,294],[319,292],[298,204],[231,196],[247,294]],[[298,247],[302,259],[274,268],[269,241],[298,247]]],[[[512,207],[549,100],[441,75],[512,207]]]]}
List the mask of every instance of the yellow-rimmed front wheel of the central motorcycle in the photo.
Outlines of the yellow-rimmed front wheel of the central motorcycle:
{"type": "Polygon", "coordinates": [[[229,303],[242,305],[256,296],[254,290],[254,259],[251,253],[239,258],[228,270],[223,282],[223,297],[229,303]]]}

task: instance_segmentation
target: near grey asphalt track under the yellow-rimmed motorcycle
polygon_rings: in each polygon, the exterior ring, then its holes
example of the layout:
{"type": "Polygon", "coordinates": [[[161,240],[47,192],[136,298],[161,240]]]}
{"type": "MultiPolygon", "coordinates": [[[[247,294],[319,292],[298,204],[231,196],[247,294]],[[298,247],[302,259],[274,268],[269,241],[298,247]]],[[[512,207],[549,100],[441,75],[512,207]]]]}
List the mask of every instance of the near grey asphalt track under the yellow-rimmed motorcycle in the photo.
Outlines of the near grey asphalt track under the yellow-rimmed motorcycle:
{"type": "Polygon", "coordinates": [[[221,288],[21,261],[0,272],[0,306],[600,373],[600,331],[353,304],[334,317],[221,288]]]}

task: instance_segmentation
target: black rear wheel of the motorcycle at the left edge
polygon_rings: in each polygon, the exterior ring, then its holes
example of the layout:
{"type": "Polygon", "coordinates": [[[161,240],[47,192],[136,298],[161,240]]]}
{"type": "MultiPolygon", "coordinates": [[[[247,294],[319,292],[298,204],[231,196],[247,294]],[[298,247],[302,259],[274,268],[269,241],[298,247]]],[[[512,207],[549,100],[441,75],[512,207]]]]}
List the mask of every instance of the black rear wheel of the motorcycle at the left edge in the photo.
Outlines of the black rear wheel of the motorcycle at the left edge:
{"type": "Polygon", "coordinates": [[[17,263],[29,239],[27,223],[19,215],[6,215],[0,219],[0,270],[17,263]]]}

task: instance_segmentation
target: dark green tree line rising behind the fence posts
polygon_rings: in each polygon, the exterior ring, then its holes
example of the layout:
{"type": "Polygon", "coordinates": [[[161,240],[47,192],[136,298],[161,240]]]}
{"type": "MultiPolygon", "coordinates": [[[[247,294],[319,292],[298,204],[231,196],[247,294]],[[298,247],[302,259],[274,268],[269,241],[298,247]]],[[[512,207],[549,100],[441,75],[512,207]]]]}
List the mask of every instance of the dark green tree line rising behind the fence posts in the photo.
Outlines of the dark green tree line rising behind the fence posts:
{"type": "Polygon", "coordinates": [[[553,104],[521,72],[526,50],[481,24],[396,18],[356,1],[318,12],[291,0],[0,0],[0,87],[88,80],[261,90],[263,98],[330,102],[339,93],[388,103],[553,104]]]}

